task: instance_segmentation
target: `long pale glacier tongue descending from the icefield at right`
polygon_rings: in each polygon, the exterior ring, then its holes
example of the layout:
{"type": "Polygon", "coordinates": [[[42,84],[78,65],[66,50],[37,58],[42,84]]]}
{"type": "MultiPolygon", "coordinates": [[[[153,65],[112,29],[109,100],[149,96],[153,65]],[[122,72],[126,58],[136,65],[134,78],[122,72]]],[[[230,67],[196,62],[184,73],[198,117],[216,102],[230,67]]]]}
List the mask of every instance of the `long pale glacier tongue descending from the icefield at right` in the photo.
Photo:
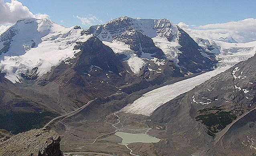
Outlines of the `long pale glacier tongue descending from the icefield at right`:
{"type": "Polygon", "coordinates": [[[120,111],[150,116],[156,108],[190,91],[195,86],[202,84],[211,77],[226,71],[236,63],[247,60],[256,52],[256,42],[225,43],[216,41],[216,43],[220,47],[221,53],[217,55],[219,63],[215,70],[149,91],[143,94],[142,97],[136,99],[133,103],[129,103],[123,107],[120,111]]]}

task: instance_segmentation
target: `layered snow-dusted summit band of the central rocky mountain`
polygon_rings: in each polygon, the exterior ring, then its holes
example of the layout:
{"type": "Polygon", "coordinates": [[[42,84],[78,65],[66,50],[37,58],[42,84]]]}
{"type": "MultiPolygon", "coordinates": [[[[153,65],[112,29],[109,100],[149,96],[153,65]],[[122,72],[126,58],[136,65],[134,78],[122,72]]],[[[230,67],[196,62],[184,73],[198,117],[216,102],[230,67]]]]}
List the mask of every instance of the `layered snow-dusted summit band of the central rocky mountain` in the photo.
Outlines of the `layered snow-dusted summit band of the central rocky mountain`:
{"type": "Polygon", "coordinates": [[[156,37],[157,35],[169,37],[170,35],[177,34],[176,25],[166,18],[144,19],[130,18],[127,16],[110,20],[106,24],[91,26],[90,32],[96,34],[102,41],[113,41],[115,36],[122,34],[129,27],[142,32],[150,38],[156,37]],[[118,30],[111,30],[112,28],[118,30]]]}

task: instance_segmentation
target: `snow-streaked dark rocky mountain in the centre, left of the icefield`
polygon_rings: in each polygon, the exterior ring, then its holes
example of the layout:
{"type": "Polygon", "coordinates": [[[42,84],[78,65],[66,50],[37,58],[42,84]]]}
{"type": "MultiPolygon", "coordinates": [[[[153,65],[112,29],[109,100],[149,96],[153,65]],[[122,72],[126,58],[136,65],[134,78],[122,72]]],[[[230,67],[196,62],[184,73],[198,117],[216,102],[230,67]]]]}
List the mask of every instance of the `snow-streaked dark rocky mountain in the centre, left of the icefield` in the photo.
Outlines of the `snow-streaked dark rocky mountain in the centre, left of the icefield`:
{"type": "Polygon", "coordinates": [[[124,16],[103,25],[91,26],[88,31],[113,50],[116,49],[115,53],[125,54],[131,69],[134,64],[129,60],[136,58],[136,66],[140,65],[140,69],[132,70],[135,74],[143,71],[142,67],[147,64],[151,65],[150,61],[161,59],[174,63],[183,74],[210,70],[216,63],[211,50],[199,47],[185,31],[167,19],[124,16]],[[123,48],[124,45],[127,45],[126,48],[123,48]]]}

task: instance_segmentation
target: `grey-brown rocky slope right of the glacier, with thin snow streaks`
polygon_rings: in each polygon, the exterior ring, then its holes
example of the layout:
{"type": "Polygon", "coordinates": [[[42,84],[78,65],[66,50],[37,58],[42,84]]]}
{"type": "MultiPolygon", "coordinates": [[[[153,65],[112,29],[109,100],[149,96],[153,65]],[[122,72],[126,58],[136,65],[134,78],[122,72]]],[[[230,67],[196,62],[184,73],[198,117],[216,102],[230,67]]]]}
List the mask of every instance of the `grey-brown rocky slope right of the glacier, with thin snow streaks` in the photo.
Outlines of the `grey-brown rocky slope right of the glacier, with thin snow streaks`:
{"type": "Polygon", "coordinates": [[[191,154],[254,154],[256,56],[156,109],[151,120],[186,138],[191,154]],[[175,120],[174,120],[175,119],[175,120]]]}

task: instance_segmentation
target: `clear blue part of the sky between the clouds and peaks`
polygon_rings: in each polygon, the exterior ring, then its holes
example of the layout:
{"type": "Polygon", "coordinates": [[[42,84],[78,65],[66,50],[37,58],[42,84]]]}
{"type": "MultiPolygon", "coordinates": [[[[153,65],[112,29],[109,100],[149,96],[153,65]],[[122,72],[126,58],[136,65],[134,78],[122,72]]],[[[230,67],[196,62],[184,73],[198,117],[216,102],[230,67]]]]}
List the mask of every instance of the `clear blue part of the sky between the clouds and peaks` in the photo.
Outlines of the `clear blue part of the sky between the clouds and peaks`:
{"type": "MultiPolygon", "coordinates": [[[[10,0],[5,0],[9,2],[10,0]]],[[[256,18],[256,0],[19,0],[33,14],[48,14],[64,26],[95,16],[99,24],[120,16],[167,18],[174,23],[205,25],[256,18]]],[[[87,28],[89,24],[82,25],[87,28]]]]}

